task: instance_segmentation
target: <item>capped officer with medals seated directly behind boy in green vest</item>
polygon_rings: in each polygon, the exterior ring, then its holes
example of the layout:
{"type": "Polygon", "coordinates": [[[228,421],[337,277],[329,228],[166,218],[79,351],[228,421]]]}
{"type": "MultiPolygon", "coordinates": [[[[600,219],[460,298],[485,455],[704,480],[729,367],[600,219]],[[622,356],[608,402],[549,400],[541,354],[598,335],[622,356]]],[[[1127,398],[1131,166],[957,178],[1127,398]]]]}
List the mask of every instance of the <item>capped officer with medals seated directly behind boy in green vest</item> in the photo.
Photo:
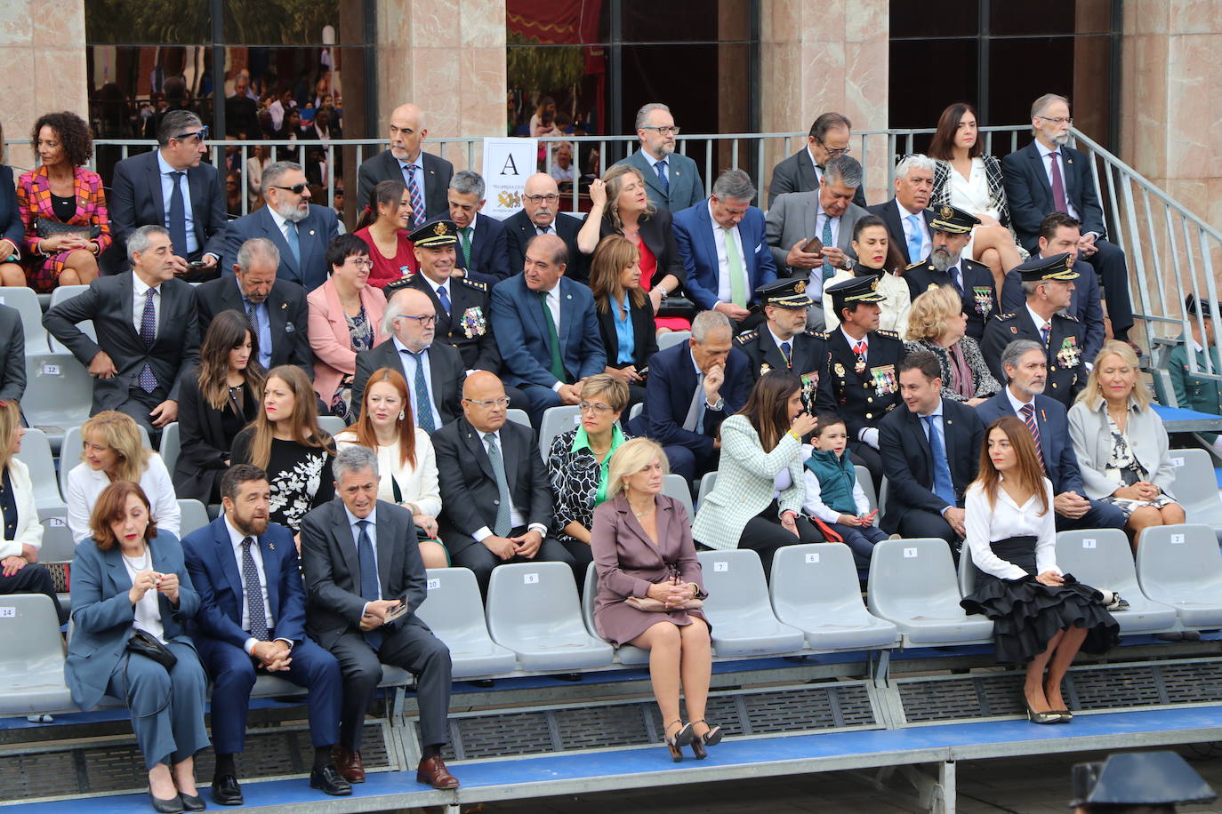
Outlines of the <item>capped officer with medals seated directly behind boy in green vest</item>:
{"type": "Polygon", "coordinates": [[[830,286],[841,323],[827,333],[827,369],[819,382],[818,409],[838,414],[848,430],[849,450],[882,483],[879,421],[899,404],[896,366],[907,353],[899,334],[879,330],[879,278],[853,277],[830,286]]]}

